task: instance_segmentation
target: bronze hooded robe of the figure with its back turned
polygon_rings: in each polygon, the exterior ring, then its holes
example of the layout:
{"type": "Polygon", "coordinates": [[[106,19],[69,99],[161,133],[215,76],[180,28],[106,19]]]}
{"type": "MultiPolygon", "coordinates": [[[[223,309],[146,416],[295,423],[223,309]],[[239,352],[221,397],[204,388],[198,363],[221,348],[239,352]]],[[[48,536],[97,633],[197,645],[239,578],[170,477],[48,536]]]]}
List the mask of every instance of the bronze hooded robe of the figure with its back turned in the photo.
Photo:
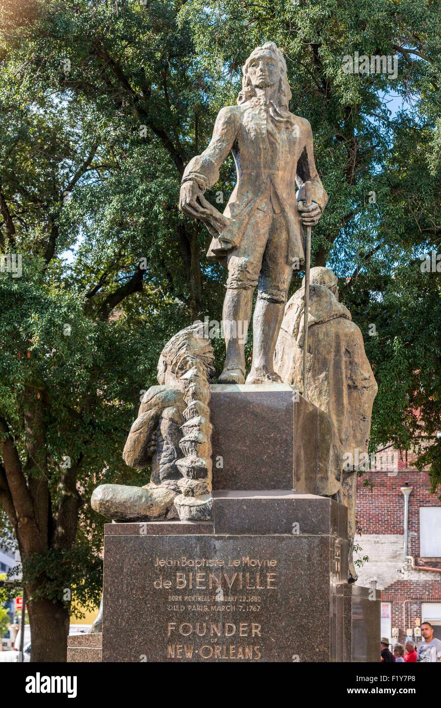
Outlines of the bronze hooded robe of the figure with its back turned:
{"type": "MultiPolygon", "coordinates": [[[[302,391],[304,290],[286,304],[274,354],[283,382],[302,391]]],[[[333,496],[344,479],[345,453],[367,452],[377,394],[363,336],[351,313],[324,285],[311,285],[308,313],[307,399],[319,409],[315,493],[333,496]],[[323,415],[322,413],[326,415],[323,415]]]]}

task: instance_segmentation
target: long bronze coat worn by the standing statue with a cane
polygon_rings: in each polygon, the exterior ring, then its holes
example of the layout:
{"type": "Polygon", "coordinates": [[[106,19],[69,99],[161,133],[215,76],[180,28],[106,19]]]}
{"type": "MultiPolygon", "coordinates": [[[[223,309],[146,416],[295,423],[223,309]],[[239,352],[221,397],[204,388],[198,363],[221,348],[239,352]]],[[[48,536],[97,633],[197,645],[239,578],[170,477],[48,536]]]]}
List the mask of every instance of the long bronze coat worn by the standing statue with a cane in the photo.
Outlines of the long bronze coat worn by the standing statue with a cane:
{"type": "Polygon", "coordinates": [[[216,119],[213,137],[201,155],[189,161],[182,181],[193,179],[205,191],[219,178],[219,168],[233,153],[237,183],[228,200],[224,216],[228,225],[213,236],[208,258],[225,264],[221,240],[230,248],[239,246],[249,218],[273,188],[281,204],[288,231],[288,262],[304,260],[300,215],[295,199],[295,183],[312,184],[311,198],[324,209],[327,193],[314,162],[312,130],[305,118],[278,108],[269,101],[261,105],[252,98],[241,105],[222,108],[216,119]]]}

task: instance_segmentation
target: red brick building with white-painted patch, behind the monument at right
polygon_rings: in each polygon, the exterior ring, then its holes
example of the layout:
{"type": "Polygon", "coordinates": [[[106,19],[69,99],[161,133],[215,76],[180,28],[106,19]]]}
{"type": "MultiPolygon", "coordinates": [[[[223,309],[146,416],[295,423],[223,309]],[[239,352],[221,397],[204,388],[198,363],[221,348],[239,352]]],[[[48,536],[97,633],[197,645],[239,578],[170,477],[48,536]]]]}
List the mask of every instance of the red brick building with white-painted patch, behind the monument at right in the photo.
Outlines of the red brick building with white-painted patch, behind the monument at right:
{"type": "Polygon", "coordinates": [[[413,459],[404,453],[398,456],[398,472],[378,470],[358,478],[356,542],[358,557],[369,556],[369,561],[358,568],[357,584],[376,583],[382,600],[379,633],[401,643],[409,634],[421,640],[415,627],[423,620],[441,639],[441,489],[430,494],[428,472],[412,468],[413,459]]]}

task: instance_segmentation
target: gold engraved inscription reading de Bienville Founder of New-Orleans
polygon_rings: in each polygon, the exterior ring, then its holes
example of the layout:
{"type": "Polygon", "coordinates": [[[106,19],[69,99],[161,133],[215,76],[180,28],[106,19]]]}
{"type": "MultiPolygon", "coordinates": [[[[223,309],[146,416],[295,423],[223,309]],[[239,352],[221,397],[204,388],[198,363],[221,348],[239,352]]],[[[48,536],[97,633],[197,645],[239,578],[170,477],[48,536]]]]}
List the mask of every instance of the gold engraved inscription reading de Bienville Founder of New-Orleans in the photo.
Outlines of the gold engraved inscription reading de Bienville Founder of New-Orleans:
{"type": "Polygon", "coordinates": [[[164,627],[165,658],[264,658],[264,628],[261,622],[252,620],[252,613],[260,612],[266,595],[277,590],[275,558],[155,556],[153,569],[155,591],[168,591],[170,619],[164,627]],[[193,619],[194,612],[200,620],[193,619]],[[228,619],[223,619],[224,613],[228,619]],[[245,618],[239,619],[243,615],[245,618]]]}

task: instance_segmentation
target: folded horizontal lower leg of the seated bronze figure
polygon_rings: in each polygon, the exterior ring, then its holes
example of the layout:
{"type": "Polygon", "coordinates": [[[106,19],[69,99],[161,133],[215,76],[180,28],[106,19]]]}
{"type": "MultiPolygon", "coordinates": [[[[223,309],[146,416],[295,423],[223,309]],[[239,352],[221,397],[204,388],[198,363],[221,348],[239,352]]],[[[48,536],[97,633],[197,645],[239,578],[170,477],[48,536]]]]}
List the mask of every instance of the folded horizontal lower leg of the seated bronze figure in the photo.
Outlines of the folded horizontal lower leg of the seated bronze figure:
{"type": "Polygon", "coordinates": [[[101,484],[94,489],[90,504],[107,519],[134,521],[164,516],[179,491],[166,486],[136,487],[101,484]]]}

